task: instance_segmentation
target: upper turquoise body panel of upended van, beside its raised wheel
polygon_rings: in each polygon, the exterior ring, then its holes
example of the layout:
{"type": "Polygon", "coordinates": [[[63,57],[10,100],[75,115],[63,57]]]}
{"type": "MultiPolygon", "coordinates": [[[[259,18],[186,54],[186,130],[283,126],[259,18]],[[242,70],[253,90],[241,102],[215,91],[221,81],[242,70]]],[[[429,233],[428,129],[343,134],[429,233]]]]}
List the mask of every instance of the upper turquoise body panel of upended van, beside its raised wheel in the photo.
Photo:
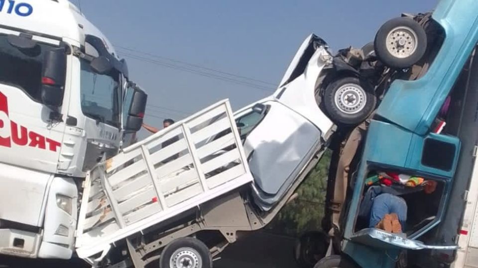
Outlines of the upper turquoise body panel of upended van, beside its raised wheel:
{"type": "Polygon", "coordinates": [[[395,80],[376,112],[383,119],[419,135],[429,132],[478,42],[478,1],[441,0],[433,19],[446,34],[434,62],[418,80],[395,80]]]}

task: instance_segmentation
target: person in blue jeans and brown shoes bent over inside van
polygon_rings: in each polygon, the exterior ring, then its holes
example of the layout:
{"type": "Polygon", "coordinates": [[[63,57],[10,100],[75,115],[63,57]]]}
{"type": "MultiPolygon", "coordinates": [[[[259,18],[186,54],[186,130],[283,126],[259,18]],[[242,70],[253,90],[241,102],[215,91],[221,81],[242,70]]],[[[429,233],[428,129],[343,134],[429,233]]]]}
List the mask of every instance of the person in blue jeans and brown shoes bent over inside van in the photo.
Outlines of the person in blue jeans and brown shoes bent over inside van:
{"type": "MultiPolygon", "coordinates": [[[[402,175],[400,175],[402,176],[402,175]]],[[[406,226],[408,206],[406,201],[400,195],[410,194],[417,191],[423,191],[426,194],[435,192],[437,183],[435,181],[425,181],[423,178],[410,177],[403,175],[405,179],[390,176],[373,176],[374,180],[378,177],[380,185],[371,186],[365,193],[359,215],[368,218],[368,228],[377,228],[390,233],[402,233],[406,226]],[[394,189],[393,184],[405,185],[400,190],[394,189]]]]}

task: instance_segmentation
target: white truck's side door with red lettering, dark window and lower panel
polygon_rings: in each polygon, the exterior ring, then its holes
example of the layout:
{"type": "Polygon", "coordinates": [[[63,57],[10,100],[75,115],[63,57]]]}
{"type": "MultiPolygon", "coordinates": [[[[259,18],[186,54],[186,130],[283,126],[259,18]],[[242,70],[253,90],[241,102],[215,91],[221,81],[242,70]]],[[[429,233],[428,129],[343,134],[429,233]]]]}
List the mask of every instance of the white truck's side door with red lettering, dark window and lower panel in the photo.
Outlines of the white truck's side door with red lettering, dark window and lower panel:
{"type": "Polygon", "coordinates": [[[15,46],[18,36],[0,28],[0,180],[8,185],[0,188],[0,203],[8,204],[0,215],[41,226],[44,193],[57,169],[65,128],[41,102],[42,84],[52,82],[42,77],[42,66],[45,53],[58,49],[59,41],[30,40],[32,47],[22,48],[15,46]]]}

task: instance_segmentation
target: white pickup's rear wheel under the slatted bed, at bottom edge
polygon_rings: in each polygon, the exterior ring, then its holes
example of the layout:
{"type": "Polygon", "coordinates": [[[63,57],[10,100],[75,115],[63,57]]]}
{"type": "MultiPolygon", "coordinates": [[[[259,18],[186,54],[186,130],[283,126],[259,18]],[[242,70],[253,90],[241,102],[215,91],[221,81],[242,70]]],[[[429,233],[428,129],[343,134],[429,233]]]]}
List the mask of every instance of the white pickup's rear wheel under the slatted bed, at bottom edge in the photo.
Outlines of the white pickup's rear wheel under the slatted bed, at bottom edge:
{"type": "Polygon", "coordinates": [[[213,259],[203,242],[183,237],[164,248],[159,268],[213,268],[213,259]]]}

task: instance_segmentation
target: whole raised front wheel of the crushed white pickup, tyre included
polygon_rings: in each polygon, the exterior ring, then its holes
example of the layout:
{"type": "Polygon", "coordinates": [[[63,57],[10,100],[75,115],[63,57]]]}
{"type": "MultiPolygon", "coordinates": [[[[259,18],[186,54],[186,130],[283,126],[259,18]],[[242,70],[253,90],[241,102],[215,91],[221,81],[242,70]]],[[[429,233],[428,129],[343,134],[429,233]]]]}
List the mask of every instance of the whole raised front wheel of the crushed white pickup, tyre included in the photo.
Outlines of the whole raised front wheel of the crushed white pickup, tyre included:
{"type": "Polygon", "coordinates": [[[358,77],[345,77],[327,85],[324,108],[339,125],[357,125],[375,109],[373,87],[358,77]]]}

